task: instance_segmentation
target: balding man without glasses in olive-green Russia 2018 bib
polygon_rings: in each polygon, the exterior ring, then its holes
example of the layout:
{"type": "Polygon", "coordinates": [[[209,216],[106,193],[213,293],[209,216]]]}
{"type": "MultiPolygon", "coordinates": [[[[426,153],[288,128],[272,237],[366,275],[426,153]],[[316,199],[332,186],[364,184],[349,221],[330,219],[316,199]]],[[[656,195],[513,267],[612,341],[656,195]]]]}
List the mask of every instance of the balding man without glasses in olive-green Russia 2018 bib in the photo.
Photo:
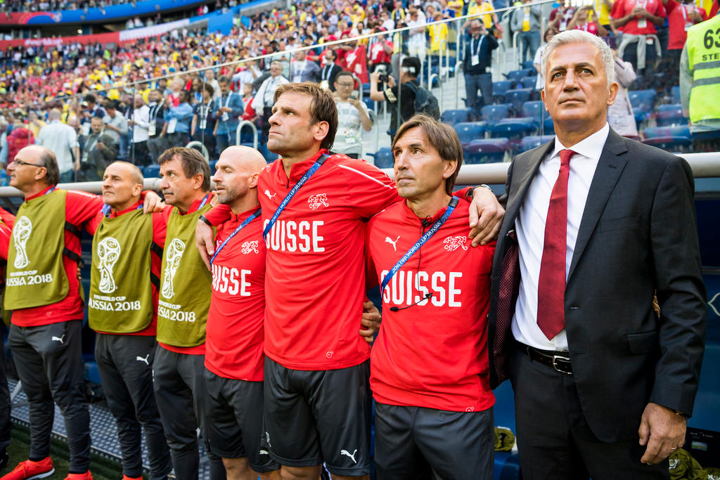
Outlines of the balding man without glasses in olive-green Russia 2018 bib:
{"type": "Polygon", "coordinates": [[[87,227],[94,234],[89,325],[97,332],[95,359],[117,422],[125,480],[143,476],[142,430],[150,479],[164,479],[172,470],[152,371],[162,263],[158,253],[165,245],[165,217],[171,207],[143,215],[142,191],[138,167],[111,163],[102,178],[105,207],[87,227]]]}

